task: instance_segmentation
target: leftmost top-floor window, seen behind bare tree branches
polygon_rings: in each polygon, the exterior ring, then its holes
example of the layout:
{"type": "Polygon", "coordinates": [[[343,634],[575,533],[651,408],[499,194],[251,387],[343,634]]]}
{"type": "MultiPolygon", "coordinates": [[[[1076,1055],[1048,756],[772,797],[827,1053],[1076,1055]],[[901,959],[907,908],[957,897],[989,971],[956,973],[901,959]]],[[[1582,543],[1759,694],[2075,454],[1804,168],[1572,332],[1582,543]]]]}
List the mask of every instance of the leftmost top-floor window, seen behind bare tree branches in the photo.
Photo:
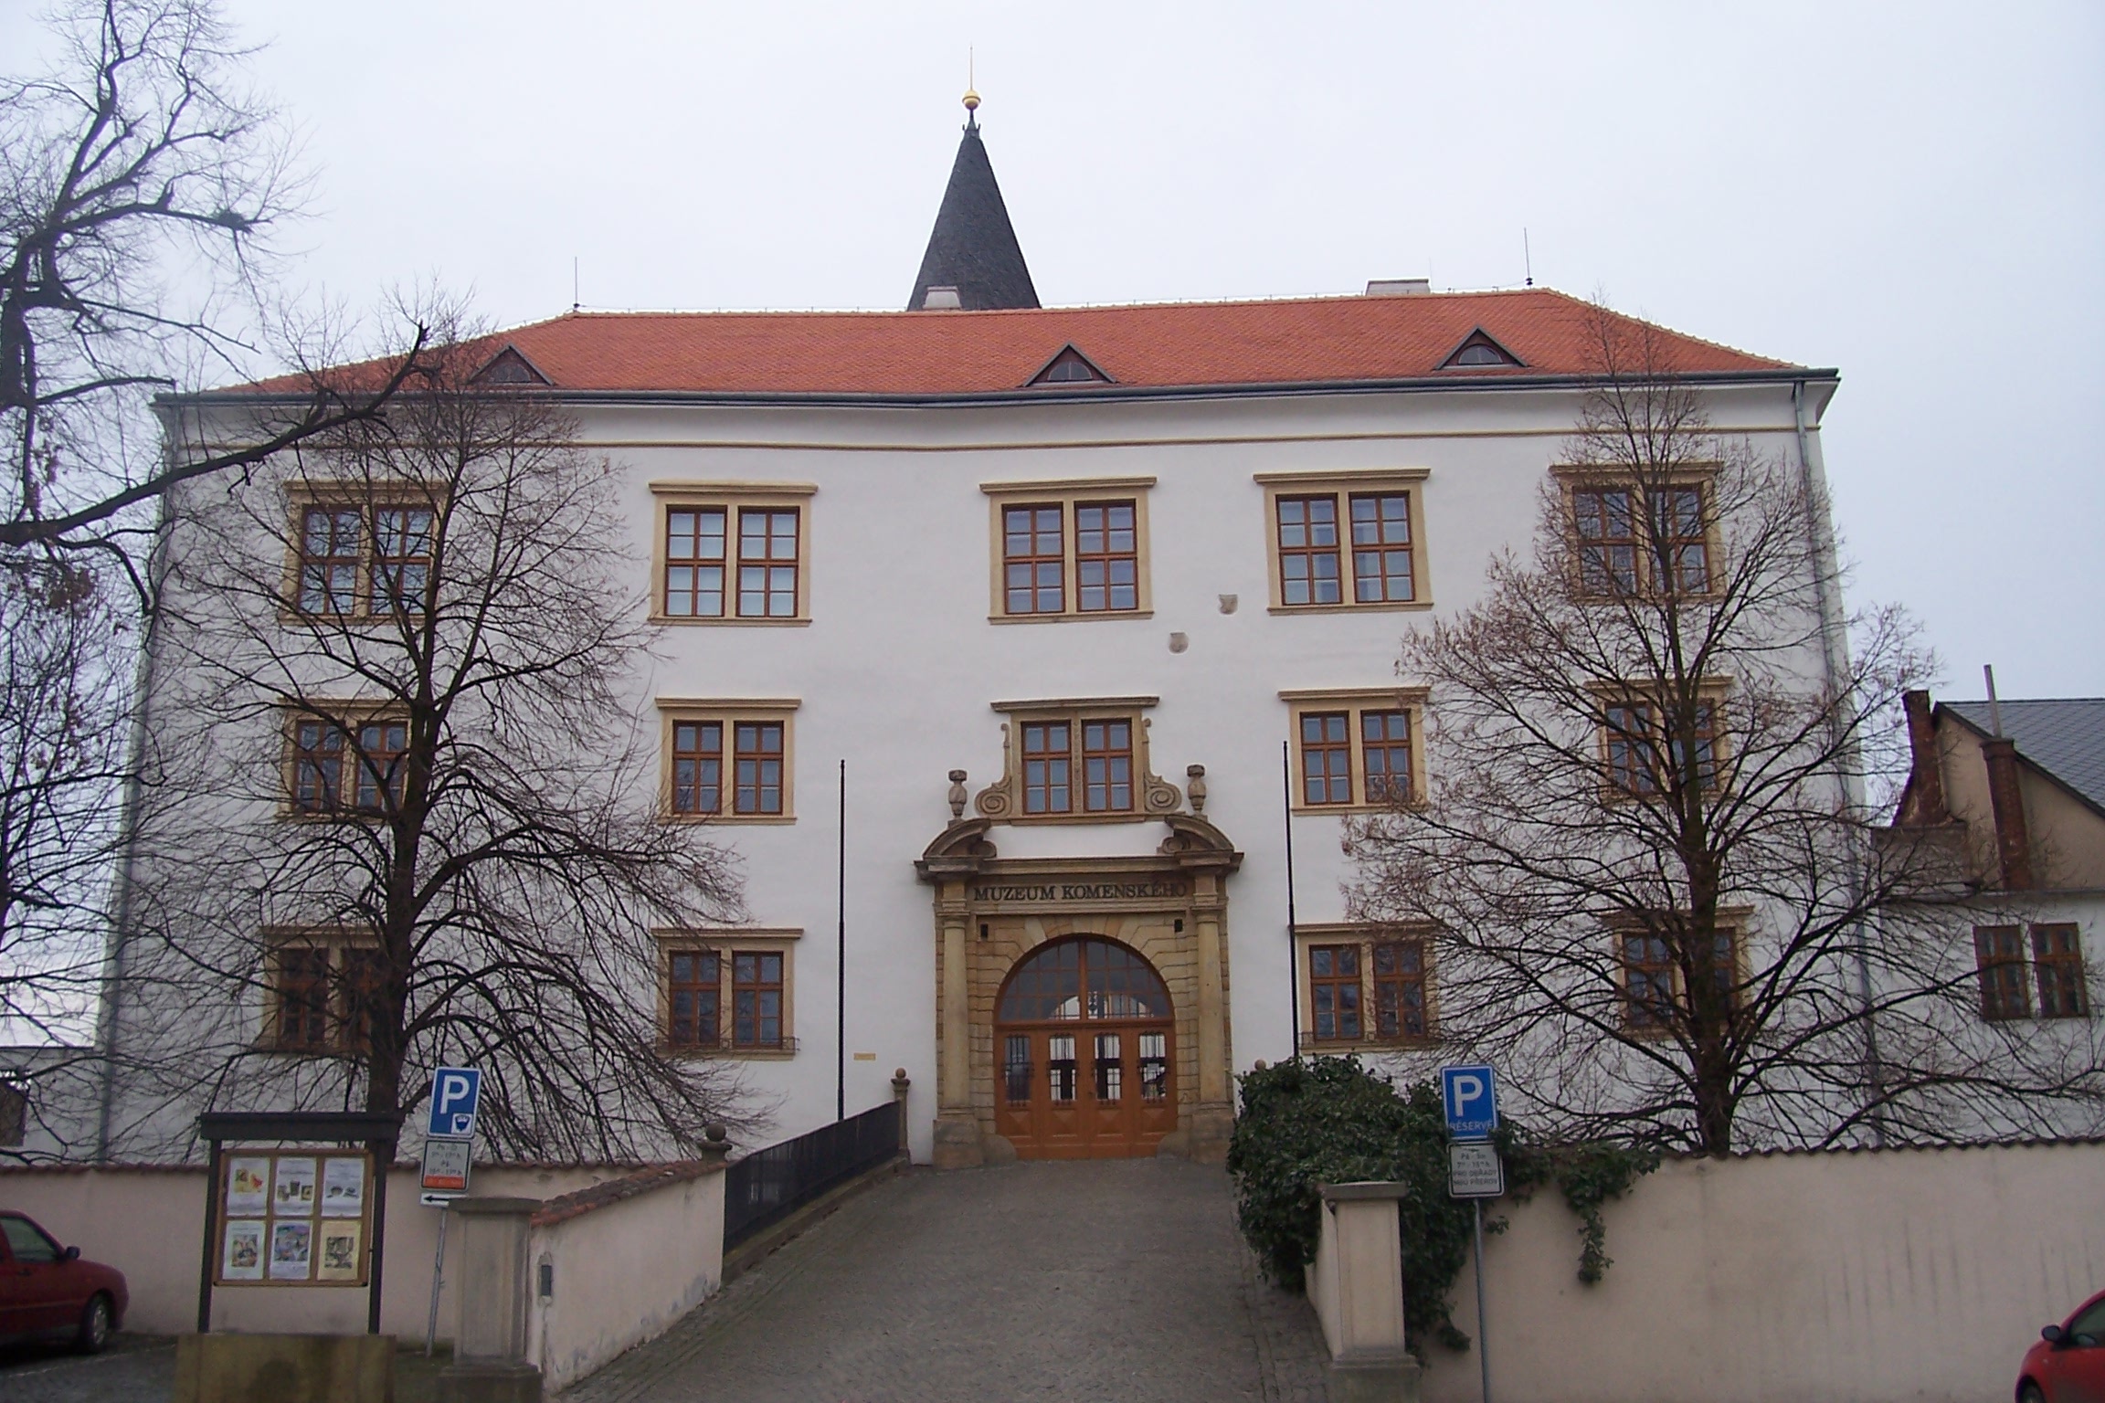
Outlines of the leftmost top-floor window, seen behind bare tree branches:
{"type": "Polygon", "coordinates": [[[436,530],[432,507],[301,507],[295,606],[305,614],[421,614],[432,593],[436,530]]]}

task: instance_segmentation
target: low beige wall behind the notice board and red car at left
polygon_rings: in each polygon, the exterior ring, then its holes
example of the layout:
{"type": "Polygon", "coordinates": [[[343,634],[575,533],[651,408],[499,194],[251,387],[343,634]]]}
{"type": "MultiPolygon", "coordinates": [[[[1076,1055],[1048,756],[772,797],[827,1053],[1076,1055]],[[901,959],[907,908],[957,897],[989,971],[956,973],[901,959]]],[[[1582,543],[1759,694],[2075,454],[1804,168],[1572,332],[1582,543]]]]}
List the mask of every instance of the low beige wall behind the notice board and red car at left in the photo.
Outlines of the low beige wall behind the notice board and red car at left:
{"type": "MultiPolygon", "coordinates": [[[[562,1170],[478,1167],[478,1195],[554,1199],[625,1167],[562,1170]]],[[[722,1176],[711,1176],[722,1178],[722,1176]]],[[[718,1195],[720,1197],[720,1195],[718,1195]]],[[[204,1252],[204,1167],[6,1170],[0,1207],[29,1214],[80,1256],[116,1266],[131,1289],[124,1329],[183,1334],[198,1327],[198,1266],[204,1252]]],[[[381,1331],[421,1340],[432,1308],[432,1262],[440,1209],[417,1203],[417,1170],[387,1178],[381,1331]]],[[[716,1252],[722,1256],[722,1218],[716,1252]]],[[[448,1233],[446,1275],[457,1273],[459,1235],[448,1233]]],[[[453,1292],[438,1308],[440,1338],[453,1338],[453,1292]]],[[[364,1287],[221,1285],[213,1289],[213,1329],[362,1334],[364,1287]]]]}

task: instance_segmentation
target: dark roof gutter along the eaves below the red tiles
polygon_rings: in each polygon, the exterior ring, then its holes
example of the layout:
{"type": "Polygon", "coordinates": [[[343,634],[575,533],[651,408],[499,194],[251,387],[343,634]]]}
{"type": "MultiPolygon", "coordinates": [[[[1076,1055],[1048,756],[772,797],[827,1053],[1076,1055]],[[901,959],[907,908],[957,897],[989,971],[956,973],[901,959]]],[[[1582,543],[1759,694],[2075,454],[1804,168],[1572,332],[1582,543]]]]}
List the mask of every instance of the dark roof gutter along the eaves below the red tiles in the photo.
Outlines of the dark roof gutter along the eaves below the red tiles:
{"type": "MultiPolygon", "coordinates": [[[[1684,385],[1791,385],[1804,393],[1808,383],[1840,383],[1833,368],[1779,370],[1705,370],[1678,377],[1684,385]]],[[[735,404],[781,408],[970,408],[1006,404],[1149,404],[1189,400],[1263,400],[1311,395],[1381,395],[1381,393],[1450,393],[1501,389],[1593,389],[1606,379],[1598,374],[1501,374],[1501,377],[1406,377],[1372,381],[1255,381],[1238,385],[1090,385],[1078,389],[981,389],[951,393],[855,393],[855,391],[733,391],[733,389],[526,389],[564,404],[735,404]]],[[[305,391],[255,393],[242,389],[206,389],[183,395],[160,395],[156,404],[173,408],[305,404],[305,391]]]]}

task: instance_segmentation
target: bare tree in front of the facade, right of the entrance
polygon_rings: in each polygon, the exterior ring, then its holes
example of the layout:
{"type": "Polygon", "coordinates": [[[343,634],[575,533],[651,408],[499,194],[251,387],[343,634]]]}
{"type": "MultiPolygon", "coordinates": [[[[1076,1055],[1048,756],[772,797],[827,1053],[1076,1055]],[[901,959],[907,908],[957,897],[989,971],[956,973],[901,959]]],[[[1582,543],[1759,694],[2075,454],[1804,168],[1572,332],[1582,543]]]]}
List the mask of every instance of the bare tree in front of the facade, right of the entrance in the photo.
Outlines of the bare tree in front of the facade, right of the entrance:
{"type": "Polygon", "coordinates": [[[1558,1130],[1713,1155],[2094,1115],[2097,1048],[1981,1022],[1966,883],[1867,799],[1930,660],[1899,610],[1831,612],[1821,484],[1716,433],[1650,328],[1591,341],[1532,557],[1404,639],[1427,804],[1349,839],[1442,1039],[1558,1130]]]}

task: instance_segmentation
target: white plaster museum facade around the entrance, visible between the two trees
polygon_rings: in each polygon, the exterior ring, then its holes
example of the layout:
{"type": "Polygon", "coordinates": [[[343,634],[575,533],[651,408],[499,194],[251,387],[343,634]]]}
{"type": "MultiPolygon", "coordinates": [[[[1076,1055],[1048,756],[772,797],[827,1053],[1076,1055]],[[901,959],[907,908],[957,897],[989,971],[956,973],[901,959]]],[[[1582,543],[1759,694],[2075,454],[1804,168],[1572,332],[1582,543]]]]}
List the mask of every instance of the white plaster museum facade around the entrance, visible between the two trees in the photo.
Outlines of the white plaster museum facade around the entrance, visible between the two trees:
{"type": "MultiPolygon", "coordinates": [[[[796,822],[726,822],[754,923],[802,928],[789,1060],[754,1060],[775,1104],[768,1138],[831,1119],[836,1096],[836,799],[848,766],[846,1106],[914,1081],[911,1151],[930,1153],[935,987],[930,892],[914,858],[947,820],[945,772],[1000,776],[987,703],[1154,694],[1151,757],[1183,785],[1206,766],[1206,816],[1246,854],[1229,881],[1236,1069],[1290,1054],[1280,743],[1282,688],[1396,682],[1398,637],[1425,612],[1267,612],[1269,524],[1261,471],[1421,467],[1419,589],[1434,612],[1480,597],[1492,551],[1528,551],[1537,492],[1579,410],[1570,391],[1223,395],[1162,402],[1036,402],[977,408],[764,408],[594,404],[585,438],[623,482],[634,551],[650,560],[650,482],[808,482],[808,627],[659,629],[636,677],[634,717],[657,696],[796,696],[796,822]],[[989,612],[987,482],[1154,475],[1149,618],[996,625],[989,612]],[[1219,595],[1238,595],[1223,614],[1219,595]],[[1168,635],[1189,635],[1172,654],[1168,635]]],[[[1716,423],[1756,448],[1796,452],[1789,387],[1724,389],[1716,423]]],[[[217,488],[215,488],[217,490],[217,488]]],[[[638,595],[648,570],[638,564],[638,595]]],[[[1404,679],[1408,682],[1408,679],[1404,679]]],[[[1345,917],[1339,818],[1295,818],[1303,921],[1345,917]]],[[[1147,852],[1160,825],[1103,831],[996,829],[1002,854],[1147,852]]]]}

